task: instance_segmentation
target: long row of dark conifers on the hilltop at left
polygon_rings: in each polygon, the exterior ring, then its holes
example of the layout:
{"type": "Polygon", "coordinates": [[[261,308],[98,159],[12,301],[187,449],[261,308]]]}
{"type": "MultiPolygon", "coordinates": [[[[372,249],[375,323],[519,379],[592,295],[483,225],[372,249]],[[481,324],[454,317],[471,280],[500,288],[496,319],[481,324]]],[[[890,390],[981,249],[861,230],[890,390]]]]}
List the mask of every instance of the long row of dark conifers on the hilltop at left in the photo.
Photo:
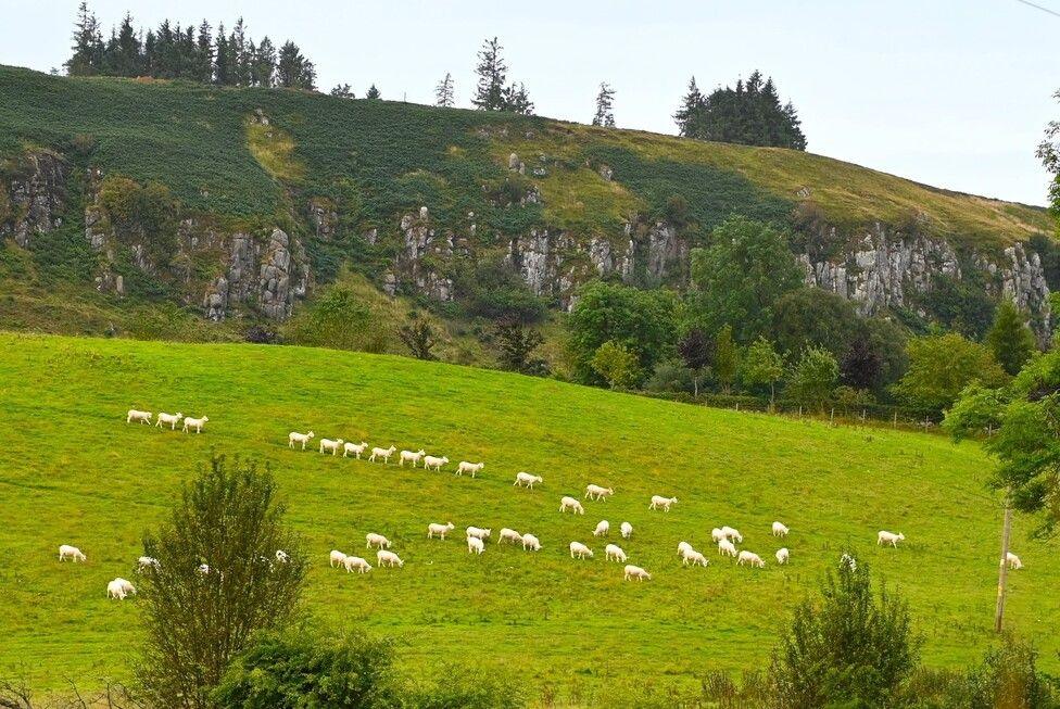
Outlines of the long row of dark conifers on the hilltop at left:
{"type": "Polygon", "coordinates": [[[96,14],[81,2],[73,40],[73,54],[65,63],[71,76],[151,76],[219,86],[316,88],[316,68],[298,45],[288,40],[277,48],[268,37],[255,42],[242,17],[227,34],[224,24],[214,33],[205,20],[198,28],[164,20],[143,33],[126,14],[104,39],[96,14]]]}

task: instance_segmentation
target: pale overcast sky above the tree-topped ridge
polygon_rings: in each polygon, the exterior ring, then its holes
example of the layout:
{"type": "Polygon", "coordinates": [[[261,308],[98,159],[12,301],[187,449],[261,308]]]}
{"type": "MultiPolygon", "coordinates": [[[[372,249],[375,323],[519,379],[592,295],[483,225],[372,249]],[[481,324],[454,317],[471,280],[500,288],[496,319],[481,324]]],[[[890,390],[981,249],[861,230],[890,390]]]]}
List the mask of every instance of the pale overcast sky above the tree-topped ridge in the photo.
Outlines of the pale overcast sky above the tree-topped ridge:
{"type": "MultiPolygon", "coordinates": [[[[47,71],[68,55],[78,0],[0,0],[0,63],[47,71]]],[[[1035,0],[1060,13],[1060,0],[1035,0]]],[[[509,78],[541,115],[588,122],[602,80],[620,127],[673,132],[689,77],[701,88],[754,68],[803,119],[809,150],[922,182],[1044,204],[1034,157],[1060,118],[1060,16],[1019,0],[451,0],[135,2],[93,0],[104,26],[126,10],[291,38],[328,89],[429,102],[445,72],[467,105],[475,53],[497,35],[509,78]]],[[[2,100],[2,97],[0,97],[2,100]]]]}

